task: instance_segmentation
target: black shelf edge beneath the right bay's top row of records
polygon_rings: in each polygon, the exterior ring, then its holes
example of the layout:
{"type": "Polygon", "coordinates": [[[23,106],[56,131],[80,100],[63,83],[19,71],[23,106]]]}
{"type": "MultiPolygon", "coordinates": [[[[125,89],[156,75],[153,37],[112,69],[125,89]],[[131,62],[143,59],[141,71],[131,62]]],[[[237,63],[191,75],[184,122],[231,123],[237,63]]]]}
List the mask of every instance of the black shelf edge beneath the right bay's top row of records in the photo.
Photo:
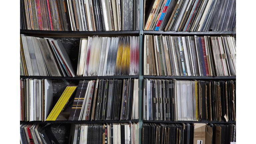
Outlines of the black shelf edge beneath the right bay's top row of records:
{"type": "Polygon", "coordinates": [[[206,32],[186,32],[186,31],[148,31],[144,30],[144,34],[176,34],[176,35],[231,35],[236,34],[236,31],[206,31],[206,32]]]}

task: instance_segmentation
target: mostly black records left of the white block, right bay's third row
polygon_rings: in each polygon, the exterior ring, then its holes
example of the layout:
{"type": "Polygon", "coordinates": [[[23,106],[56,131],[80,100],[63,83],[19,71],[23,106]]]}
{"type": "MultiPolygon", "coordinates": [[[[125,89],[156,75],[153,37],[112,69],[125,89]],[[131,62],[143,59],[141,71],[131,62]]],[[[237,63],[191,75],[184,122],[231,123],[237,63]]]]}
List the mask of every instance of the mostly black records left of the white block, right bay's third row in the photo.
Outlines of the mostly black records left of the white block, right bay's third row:
{"type": "Polygon", "coordinates": [[[143,79],[143,119],[175,120],[174,87],[171,80],[143,79]]]}

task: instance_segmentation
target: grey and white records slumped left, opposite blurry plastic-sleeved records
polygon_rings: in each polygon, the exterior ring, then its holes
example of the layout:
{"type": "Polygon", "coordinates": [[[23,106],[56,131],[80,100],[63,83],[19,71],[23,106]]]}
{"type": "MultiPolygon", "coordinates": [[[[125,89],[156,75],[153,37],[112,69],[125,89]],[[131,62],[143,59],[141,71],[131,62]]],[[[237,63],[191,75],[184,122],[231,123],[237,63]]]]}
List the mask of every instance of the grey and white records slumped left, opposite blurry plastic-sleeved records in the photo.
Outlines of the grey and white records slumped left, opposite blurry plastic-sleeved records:
{"type": "Polygon", "coordinates": [[[60,41],[21,34],[20,75],[74,77],[75,72],[60,41]]]}

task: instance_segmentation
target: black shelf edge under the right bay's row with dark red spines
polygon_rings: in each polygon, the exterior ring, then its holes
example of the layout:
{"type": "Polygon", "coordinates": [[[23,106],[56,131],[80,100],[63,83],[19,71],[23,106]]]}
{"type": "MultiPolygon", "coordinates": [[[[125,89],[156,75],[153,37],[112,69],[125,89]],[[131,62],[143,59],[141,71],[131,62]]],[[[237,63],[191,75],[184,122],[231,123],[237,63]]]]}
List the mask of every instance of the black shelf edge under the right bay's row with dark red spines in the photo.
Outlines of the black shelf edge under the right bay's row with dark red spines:
{"type": "Polygon", "coordinates": [[[165,79],[236,79],[236,76],[153,76],[143,75],[143,78],[165,78],[165,79]]]}

